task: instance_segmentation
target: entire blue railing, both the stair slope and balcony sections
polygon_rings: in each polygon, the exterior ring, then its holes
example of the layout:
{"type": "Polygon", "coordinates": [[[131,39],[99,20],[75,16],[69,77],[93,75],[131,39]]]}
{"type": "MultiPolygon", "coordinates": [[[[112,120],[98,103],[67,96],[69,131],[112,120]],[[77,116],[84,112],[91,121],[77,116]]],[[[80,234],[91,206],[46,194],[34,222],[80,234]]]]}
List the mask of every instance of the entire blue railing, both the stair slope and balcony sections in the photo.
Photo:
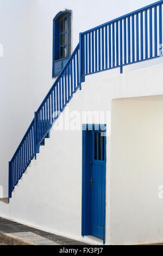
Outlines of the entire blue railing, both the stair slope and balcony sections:
{"type": "Polygon", "coordinates": [[[79,45],[51,90],[35,112],[35,117],[9,162],[9,198],[54,122],[85,76],[104,70],[160,57],[162,49],[163,1],[124,15],[80,33],[79,45]]]}

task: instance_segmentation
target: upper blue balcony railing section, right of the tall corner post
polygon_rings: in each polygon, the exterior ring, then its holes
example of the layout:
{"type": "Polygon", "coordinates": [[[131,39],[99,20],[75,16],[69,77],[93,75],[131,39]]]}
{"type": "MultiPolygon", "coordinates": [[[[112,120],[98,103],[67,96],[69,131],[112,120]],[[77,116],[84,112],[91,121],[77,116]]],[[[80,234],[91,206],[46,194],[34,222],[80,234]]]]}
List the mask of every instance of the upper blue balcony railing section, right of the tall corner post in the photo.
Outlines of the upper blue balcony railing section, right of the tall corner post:
{"type": "Polygon", "coordinates": [[[81,33],[82,76],[160,57],[162,2],[81,33]]]}

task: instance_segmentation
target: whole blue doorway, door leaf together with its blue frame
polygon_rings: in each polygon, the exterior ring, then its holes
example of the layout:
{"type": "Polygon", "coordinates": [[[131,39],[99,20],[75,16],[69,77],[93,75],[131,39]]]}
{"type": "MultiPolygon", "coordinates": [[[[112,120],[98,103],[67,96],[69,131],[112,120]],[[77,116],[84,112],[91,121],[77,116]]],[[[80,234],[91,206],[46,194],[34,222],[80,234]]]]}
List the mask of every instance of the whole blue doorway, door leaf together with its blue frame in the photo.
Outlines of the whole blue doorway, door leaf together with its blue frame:
{"type": "Polygon", "coordinates": [[[82,235],[92,235],[105,243],[105,125],[89,130],[83,125],[82,235]],[[102,129],[102,130],[101,130],[102,129]]]}

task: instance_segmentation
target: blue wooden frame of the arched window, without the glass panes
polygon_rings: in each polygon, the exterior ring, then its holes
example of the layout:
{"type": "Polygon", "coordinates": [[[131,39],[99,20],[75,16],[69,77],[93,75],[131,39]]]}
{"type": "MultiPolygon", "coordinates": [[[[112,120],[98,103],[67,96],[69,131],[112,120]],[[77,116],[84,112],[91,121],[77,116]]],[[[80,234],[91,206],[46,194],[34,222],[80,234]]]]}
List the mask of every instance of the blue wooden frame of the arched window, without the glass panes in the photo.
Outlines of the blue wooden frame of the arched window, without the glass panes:
{"type": "Polygon", "coordinates": [[[57,72],[55,70],[56,65],[59,65],[61,69],[66,63],[66,60],[71,56],[72,52],[72,11],[65,9],[64,11],[60,11],[53,19],[53,67],[52,67],[52,78],[56,77],[57,72]],[[63,16],[63,17],[62,17],[63,16]],[[66,36],[67,36],[67,50],[66,50],[66,57],[61,57],[60,55],[60,24],[61,21],[64,20],[66,17],[67,19],[67,31],[66,31],[66,36]],[[60,20],[59,20],[60,19],[60,20]],[[69,21],[71,20],[71,28],[69,29],[69,21]],[[69,33],[71,32],[71,39],[70,39],[70,44],[69,44],[69,33]],[[70,51],[69,51],[69,45],[70,45],[70,51]]]}

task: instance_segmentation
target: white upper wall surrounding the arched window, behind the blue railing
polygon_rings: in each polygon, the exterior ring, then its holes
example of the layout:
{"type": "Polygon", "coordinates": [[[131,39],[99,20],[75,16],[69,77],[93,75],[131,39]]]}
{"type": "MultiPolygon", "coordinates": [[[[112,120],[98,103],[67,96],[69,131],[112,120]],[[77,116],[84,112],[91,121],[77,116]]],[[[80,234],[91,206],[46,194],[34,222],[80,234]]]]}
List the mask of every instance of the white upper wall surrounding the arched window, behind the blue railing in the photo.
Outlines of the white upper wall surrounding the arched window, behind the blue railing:
{"type": "Polygon", "coordinates": [[[8,195],[8,161],[54,82],[54,16],[65,8],[72,10],[74,49],[79,32],[151,3],[153,0],[0,0],[0,44],[4,52],[0,58],[0,185],[4,197],[8,195]]]}

